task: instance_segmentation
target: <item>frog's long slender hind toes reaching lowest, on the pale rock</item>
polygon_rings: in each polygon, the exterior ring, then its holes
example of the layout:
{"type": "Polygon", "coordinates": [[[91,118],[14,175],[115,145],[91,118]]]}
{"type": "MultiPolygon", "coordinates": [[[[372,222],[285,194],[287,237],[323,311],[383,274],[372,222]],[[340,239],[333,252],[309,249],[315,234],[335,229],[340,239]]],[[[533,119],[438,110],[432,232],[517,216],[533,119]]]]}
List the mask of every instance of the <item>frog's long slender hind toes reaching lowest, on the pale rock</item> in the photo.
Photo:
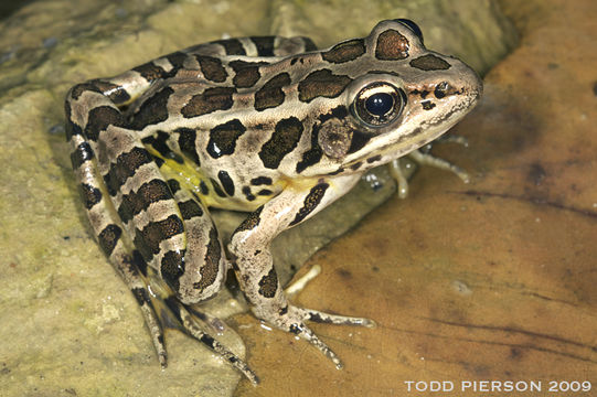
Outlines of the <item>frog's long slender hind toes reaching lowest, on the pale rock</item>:
{"type": "Polygon", "coordinates": [[[212,350],[216,355],[227,361],[233,367],[239,371],[253,385],[259,383],[259,378],[249,368],[249,366],[242,361],[236,354],[228,351],[223,344],[217,342],[213,336],[204,331],[204,329],[198,323],[198,319],[203,318],[213,319],[210,315],[199,315],[198,312],[180,302],[174,296],[170,296],[163,300],[170,312],[177,318],[181,330],[191,337],[203,343],[206,347],[212,350]]]}

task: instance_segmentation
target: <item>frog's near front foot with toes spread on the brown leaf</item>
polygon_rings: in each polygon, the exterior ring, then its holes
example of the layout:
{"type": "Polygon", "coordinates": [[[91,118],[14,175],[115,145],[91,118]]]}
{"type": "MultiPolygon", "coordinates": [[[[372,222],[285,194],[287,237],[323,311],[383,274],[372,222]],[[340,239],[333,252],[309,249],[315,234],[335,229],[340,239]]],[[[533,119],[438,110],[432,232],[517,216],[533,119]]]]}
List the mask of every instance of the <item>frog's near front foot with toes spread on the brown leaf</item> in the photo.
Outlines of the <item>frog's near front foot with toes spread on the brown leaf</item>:
{"type": "Polygon", "coordinates": [[[294,333],[308,341],[330,358],[338,369],[342,369],[343,367],[340,357],[338,357],[338,355],[305,324],[305,321],[338,325],[375,326],[375,322],[370,319],[329,314],[318,310],[298,308],[291,304],[280,311],[285,311],[285,313],[277,315],[276,319],[268,322],[280,330],[294,333]]]}

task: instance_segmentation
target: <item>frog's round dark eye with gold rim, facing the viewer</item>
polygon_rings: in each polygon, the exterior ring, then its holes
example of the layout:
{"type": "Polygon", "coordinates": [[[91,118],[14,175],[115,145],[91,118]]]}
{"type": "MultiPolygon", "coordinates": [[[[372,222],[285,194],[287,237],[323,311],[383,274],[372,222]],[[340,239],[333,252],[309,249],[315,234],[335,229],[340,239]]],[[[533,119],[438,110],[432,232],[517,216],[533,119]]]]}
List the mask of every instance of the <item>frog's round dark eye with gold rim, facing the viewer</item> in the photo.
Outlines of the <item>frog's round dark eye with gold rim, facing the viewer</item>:
{"type": "Polygon", "coordinates": [[[401,115],[405,98],[402,89],[387,83],[374,83],[356,95],[353,112],[364,124],[382,127],[401,115]]]}

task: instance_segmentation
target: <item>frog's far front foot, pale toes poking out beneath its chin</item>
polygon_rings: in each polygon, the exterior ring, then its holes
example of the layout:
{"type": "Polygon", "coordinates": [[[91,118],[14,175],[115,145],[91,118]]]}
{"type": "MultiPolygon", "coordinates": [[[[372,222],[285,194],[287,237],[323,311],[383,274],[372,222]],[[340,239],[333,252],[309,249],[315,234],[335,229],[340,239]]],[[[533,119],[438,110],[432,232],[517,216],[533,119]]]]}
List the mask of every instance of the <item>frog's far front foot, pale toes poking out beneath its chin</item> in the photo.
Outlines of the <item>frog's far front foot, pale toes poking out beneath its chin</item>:
{"type": "MultiPolygon", "coordinates": [[[[433,143],[444,143],[444,142],[455,142],[462,144],[463,147],[468,147],[468,141],[465,137],[460,136],[443,136],[435,140],[433,143]]],[[[454,172],[462,182],[469,183],[470,176],[469,174],[462,170],[460,167],[450,163],[447,160],[444,160],[441,158],[435,157],[430,153],[433,143],[427,143],[426,146],[413,150],[411,153],[407,154],[407,157],[413,160],[414,162],[420,164],[420,165],[431,165],[441,170],[447,170],[454,172]]],[[[390,173],[392,176],[396,180],[398,184],[398,197],[406,198],[408,195],[408,181],[406,178],[406,170],[408,167],[412,167],[411,164],[405,164],[401,159],[395,159],[390,163],[390,173]]]]}

